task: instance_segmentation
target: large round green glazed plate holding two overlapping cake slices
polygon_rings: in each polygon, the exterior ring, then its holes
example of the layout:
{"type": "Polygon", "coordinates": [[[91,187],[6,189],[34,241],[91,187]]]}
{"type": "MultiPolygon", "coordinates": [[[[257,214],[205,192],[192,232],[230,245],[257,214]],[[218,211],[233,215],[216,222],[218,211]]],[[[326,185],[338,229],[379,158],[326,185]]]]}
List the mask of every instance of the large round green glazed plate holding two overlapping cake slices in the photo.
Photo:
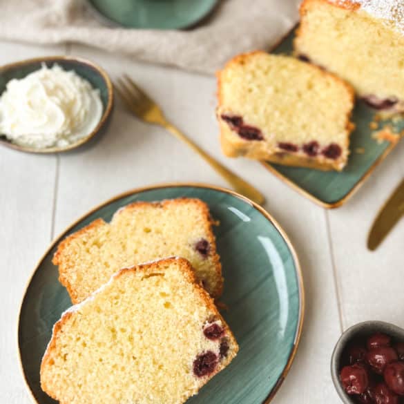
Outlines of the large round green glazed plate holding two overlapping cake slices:
{"type": "Polygon", "coordinates": [[[52,325],[70,307],[52,256],[68,233],[137,200],[200,198],[209,204],[224,273],[224,318],[240,344],[231,365],[188,403],[261,404],[269,402],[296,353],[303,318],[303,287],[296,253],[279,225],[244,197],[202,185],[173,184],[119,195],[97,207],[65,231],[46,252],[30,280],[19,316],[19,354],[35,401],[55,403],[39,385],[39,366],[52,325]]]}

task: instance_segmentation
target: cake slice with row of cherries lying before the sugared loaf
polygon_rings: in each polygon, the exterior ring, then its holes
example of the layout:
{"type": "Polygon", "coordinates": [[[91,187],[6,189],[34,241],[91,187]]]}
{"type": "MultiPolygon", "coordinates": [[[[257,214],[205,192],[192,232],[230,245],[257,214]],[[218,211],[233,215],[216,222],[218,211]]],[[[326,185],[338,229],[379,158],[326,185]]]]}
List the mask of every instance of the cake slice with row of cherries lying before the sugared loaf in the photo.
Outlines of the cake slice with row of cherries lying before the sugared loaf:
{"type": "Polygon", "coordinates": [[[218,73],[225,155],[342,170],[349,154],[354,91],[293,57],[238,55],[218,73]]]}

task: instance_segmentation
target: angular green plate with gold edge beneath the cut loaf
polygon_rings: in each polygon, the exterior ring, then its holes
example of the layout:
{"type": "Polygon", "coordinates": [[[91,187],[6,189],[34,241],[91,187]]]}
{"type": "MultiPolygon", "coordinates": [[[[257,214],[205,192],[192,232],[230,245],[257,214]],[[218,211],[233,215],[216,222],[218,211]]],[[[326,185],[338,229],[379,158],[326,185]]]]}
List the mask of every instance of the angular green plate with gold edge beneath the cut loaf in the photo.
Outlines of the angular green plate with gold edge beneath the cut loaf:
{"type": "MultiPolygon", "coordinates": [[[[291,54],[293,47],[292,32],[275,49],[273,53],[291,54]]],[[[352,133],[348,164],[344,171],[318,171],[298,167],[281,166],[264,163],[270,171],[287,182],[296,191],[326,208],[341,206],[363,184],[366,177],[392,151],[394,144],[383,142],[378,144],[372,139],[370,122],[374,120],[375,110],[364,102],[357,102],[352,119],[356,130],[352,133]],[[358,153],[358,151],[363,153],[358,153]]],[[[404,130],[404,119],[401,122],[383,122],[390,124],[400,133],[404,130]]]]}

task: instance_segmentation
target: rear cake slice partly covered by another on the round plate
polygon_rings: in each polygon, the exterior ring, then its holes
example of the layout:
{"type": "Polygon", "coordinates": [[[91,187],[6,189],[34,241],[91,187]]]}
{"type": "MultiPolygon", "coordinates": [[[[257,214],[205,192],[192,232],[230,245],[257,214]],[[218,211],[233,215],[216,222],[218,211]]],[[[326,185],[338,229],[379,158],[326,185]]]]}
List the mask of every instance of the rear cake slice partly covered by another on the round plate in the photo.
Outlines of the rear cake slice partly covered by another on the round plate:
{"type": "Polygon", "coordinates": [[[197,279],[217,298],[223,278],[212,224],[208,206],[198,199],[135,202],[119,209],[110,223],[98,219],[69,235],[53,263],[73,303],[121,268],[170,256],[189,260],[197,279]]]}

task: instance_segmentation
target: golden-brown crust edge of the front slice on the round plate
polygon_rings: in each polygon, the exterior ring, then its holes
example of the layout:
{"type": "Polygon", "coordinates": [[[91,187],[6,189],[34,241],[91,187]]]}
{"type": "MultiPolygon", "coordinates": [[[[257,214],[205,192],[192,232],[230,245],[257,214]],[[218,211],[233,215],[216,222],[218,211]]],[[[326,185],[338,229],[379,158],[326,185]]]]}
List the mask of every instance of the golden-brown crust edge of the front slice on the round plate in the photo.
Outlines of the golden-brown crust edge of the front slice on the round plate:
{"type": "MultiPolygon", "coordinates": [[[[218,320],[220,320],[222,322],[222,325],[226,331],[226,336],[231,341],[231,346],[233,347],[233,354],[231,356],[229,356],[228,360],[226,361],[226,364],[223,367],[227,366],[231,362],[231,360],[233,360],[233,358],[235,357],[235,355],[238,352],[238,349],[239,349],[238,343],[235,340],[235,337],[234,337],[231,329],[227,325],[226,321],[224,320],[224,318],[222,317],[222,315],[220,314],[218,309],[215,307],[213,299],[211,298],[211,296],[209,296],[209,294],[206,292],[206,290],[200,285],[200,282],[198,282],[198,280],[195,278],[195,271],[193,270],[193,267],[191,266],[191,263],[188,260],[186,260],[185,258],[170,257],[170,258],[164,258],[162,260],[157,260],[154,262],[135,265],[131,268],[121,269],[120,271],[118,271],[111,277],[111,280],[122,277],[125,274],[138,273],[138,272],[143,272],[145,275],[159,273],[159,272],[161,273],[162,271],[164,272],[164,265],[169,265],[172,262],[177,262],[177,264],[179,264],[178,267],[184,274],[186,280],[188,280],[191,284],[193,284],[195,291],[202,298],[206,307],[208,307],[209,310],[213,311],[213,313],[215,314],[215,318],[217,318],[218,320]]],[[[93,295],[86,298],[86,300],[83,300],[83,302],[79,303],[79,305],[77,305],[76,307],[85,304],[87,300],[90,300],[95,294],[102,291],[102,289],[103,289],[103,287],[99,288],[97,291],[95,291],[93,293],[93,295]]],[[[48,387],[47,379],[44,377],[44,374],[45,374],[44,369],[46,366],[51,364],[50,361],[52,360],[52,352],[55,352],[55,349],[57,347],[57,340],[59,338],[59,334],[61,332],[63,332],[62,329],[63,329],[64,325],[66,324],[68,319],[74,315],[74,312],[75,312],[75,306],[71,307],[68,311],[65,311],[64,314],[62,314],[61,318],[57,321],[57,323],[55,323],[53,330],[52,330],[52,337],[50,339],[50,342],[48,343],[48,347],[46,348],[44,357],[42,358],[42,361],[41,361],[41,367],[40,367],[41,389],[44,392],[46,392],[46,394],[48,394],[48,396],[54,398],[55,400],[57,400],[57,397],[52,392],[50,387],[48,387]]],[[[202,385],[205,385],[206,383],[208,383],[208,381],[213,376],[215,376],[215,374],[220,372],[220,370],[223,367],[218,367],[209,375],[208,378],[204,378],[203,379],[204,383],[202,385]]],[[[63,404],[62,401],[60,401],[60,403],[63,404]]],[[[68,404],[68,403],[66,403],[66,404],[68,404]]]]}

